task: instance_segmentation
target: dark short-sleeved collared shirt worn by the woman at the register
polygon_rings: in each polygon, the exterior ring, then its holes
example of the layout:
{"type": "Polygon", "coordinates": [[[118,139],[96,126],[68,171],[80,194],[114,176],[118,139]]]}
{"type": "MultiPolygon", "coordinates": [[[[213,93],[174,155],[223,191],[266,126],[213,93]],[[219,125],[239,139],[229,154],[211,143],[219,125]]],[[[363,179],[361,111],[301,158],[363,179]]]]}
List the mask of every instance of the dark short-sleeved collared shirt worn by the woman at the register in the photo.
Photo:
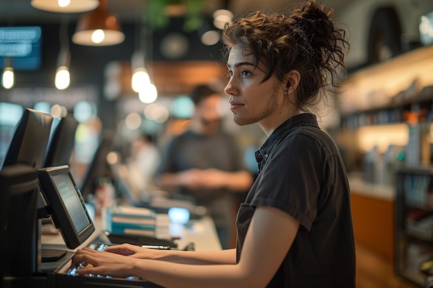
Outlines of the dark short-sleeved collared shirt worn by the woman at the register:
{"type": "Polygon", "coordinates": [[[256,158],[259,175],[237,215],[238,261],[255,208],[276,207],[299,221],[300,229],[267,287],[355,287],[347,172],[315,115],[288,119],[268,137],[256,158]]]}

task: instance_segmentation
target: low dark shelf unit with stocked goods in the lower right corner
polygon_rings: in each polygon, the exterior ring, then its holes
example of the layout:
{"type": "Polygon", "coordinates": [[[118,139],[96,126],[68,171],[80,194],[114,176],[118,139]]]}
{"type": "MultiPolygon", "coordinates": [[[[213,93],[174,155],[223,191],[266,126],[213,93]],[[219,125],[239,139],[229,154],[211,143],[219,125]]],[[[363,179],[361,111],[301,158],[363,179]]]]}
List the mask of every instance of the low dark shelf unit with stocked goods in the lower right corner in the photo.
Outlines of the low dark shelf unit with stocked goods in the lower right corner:
{"type": "Polygon", "coordinates": [[[433,168],[396,173],[395,272],[425,287],[421,264],[433,258],[433,168]]]}

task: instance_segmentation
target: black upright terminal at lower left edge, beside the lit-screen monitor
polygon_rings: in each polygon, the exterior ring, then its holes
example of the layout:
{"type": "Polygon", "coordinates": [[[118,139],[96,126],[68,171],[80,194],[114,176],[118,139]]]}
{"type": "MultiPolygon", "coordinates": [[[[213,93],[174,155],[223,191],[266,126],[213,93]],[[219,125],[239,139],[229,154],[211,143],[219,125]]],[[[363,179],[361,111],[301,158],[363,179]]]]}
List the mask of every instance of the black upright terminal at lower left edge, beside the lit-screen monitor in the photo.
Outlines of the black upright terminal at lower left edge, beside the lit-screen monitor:
{"type": "Polygon", "coordinates": [[[27,165],[5,166],[0,171],[0,287],[1,278],[29,278],[40,269],[37,229],[36,170],[27,165]],[[12,276],[12,277],[6,277],[12,276]]]}

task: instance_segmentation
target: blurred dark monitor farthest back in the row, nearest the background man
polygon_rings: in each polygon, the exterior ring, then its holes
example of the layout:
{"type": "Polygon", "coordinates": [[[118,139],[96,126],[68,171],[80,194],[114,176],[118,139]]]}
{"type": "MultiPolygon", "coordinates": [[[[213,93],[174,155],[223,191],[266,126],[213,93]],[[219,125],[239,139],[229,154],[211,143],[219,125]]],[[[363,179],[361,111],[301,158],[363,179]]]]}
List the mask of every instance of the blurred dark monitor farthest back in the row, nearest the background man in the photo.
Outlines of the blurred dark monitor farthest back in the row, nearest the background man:
{"type": "Polygon", "coordinates": [[[105,131],[98,148],[93,154],[93,160],[90,162],[82,182],[81,193],[86,202],[90,202],[91,195],[93,195],[93,192],[95,191],[98,179],[109,175],[107,155],[112,148],[113,135],[105,131]]]}

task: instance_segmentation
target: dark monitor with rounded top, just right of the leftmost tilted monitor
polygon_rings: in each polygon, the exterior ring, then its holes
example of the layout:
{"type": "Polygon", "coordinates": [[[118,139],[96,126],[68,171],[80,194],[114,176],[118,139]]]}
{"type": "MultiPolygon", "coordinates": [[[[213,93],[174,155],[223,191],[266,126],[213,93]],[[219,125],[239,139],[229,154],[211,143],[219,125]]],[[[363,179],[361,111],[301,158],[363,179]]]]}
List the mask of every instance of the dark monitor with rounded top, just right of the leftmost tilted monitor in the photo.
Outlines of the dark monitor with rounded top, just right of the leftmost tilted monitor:
{"type": "Polygon", "coordinates": [[[42,167],[70,164],[78,122],[71,114],[60,118],[58,121],[57,125],[53,127],[42,167]]]}

